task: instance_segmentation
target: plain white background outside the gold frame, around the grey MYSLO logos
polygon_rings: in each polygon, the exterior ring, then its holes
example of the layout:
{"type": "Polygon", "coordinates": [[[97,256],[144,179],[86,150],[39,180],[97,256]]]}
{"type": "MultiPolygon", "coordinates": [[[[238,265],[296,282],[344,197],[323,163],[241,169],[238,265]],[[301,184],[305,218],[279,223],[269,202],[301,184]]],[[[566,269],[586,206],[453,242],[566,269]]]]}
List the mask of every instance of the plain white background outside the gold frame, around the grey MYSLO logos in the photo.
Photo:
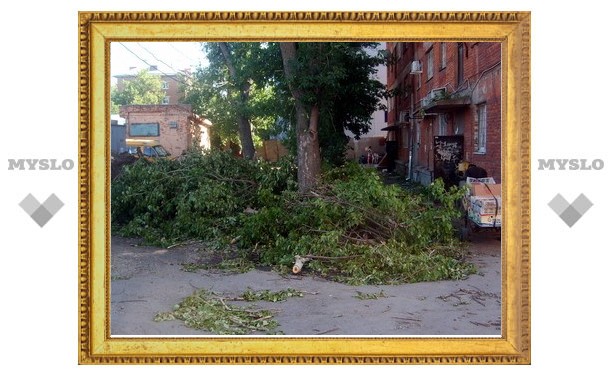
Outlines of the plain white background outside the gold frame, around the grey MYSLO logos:
{"type": "MultiPolygon", "coordinates": [[[[161,377],[178,374],[577,375],[605,367],[610,340],[612,127],[605,2],[311,0],[10,2],[0,23],[0,326],[2,370],[18,375],[161,377]],[[522,10],[531,11],[532,364],[531,366],[78,366],[77,170],[9,171],[10,158],[78,164],[78,20],[115,10],[522,10]],[[601,171],[537,171],[537,159],[602,159],[601,171]],[[65,206],[44,228],[18,203],[56,193],[65,206]],[[547,206],[557,193],[584,193],[593,208],[568,228],[547,206]],[[146,375],[145,375],[146,374],[146,375]]],[[[10,374],[10,373],[9,373],[10,374]]]]}

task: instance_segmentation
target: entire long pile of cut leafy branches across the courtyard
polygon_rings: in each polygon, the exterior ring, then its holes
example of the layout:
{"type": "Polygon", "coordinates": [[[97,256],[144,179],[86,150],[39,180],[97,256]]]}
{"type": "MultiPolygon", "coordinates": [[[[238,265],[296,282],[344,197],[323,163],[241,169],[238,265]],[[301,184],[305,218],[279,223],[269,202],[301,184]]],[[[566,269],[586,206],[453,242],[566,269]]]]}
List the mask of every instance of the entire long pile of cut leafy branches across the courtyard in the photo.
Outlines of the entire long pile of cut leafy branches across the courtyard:
{"type": "Polygon", "coordinates": [[[463,193],[442,182],[409,193],[357,164],[328,169],[306,194],[296,168],[222,152],[138,162],[112,185],[112,221],[128,236],[170,244],[235,242],[257,264],[311,271],[349,284],[460,279],[474,273],[453,222],[463,193]]]}

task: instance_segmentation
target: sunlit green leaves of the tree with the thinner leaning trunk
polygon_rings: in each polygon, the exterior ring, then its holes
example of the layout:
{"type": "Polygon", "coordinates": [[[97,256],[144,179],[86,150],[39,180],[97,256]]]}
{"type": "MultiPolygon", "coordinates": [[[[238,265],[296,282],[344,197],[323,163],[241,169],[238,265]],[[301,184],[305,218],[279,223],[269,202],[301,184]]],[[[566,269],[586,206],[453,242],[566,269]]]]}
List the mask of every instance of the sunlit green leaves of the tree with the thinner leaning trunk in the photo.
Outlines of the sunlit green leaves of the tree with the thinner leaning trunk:
{"type": "Polygon", "coordinates": [[[256,143],[278,134],[278,120],[289,107],[287,96],[279,95],[283,83],[278,77],[282,72],[278,43],[210,42],[203,43],[202,50],[209,64],[199,67],[183,87],[185,102],[211,120],[221,142],[238,143],[239,117],[250,121],[256,143]]]}

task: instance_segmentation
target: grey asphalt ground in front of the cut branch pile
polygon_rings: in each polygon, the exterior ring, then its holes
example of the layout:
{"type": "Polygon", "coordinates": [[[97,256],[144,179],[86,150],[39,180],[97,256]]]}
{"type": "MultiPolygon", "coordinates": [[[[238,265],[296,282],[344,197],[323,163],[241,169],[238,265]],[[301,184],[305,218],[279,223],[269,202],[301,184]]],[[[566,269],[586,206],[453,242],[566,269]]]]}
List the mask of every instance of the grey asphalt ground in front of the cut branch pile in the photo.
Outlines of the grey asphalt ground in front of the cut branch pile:
{"type": "Polygon", "coordinates": [[[478,274],[461,281],[349,286],[321,278],[251,270],[244,274],[185,272],[201,261],[198,245],[159,249],[114,237],[111,246],[111,335],[205,335],[180,321],[155,322],[197,289],[239,296],[246,289],[293,288],[303,297],[261,302],[276,310],[284,335],[469,335],[501,334],[501,247],[496,235],[477,234],[469,259],[478,274]],[[359,293],[384,293],[358,299],[359,293]]]}

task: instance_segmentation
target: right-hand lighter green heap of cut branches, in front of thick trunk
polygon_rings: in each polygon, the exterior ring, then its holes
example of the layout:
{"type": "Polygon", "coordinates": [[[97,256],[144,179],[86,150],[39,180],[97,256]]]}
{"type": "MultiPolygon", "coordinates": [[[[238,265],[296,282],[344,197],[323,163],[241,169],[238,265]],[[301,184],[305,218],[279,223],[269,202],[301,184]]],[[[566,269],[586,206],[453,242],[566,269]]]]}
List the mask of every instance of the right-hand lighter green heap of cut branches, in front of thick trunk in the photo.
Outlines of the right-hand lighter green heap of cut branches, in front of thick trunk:
{"type": "Polygon", "coordinates": [[[295,255],[323,256],[310,268],[351,284],[459,279],[473,268],[459,263],[455,201],[462,192],[436,181],[427,195],[386,186],[357,164],[332,169],[308,196],[285,192],[281,205],[262,209],[241,229],[260,246],[265,264],[292,264],[295,255]],[[264,248],[261,248],[264,247],[264,248]]]}

